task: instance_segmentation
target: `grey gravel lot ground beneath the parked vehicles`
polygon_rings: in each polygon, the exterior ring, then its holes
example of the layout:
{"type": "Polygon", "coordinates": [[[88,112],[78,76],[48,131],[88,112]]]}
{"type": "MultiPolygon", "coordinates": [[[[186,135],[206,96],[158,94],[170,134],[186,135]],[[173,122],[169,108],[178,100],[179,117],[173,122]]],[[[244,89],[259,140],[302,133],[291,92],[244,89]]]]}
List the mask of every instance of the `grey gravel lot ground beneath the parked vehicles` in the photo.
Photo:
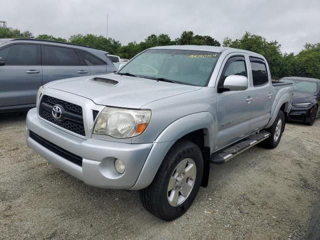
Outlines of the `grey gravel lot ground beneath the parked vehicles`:
{"type": "Polygon", "coordinates": [[[147,213],[136,191],[98,189],[27,148],[25,116],[0,115],[0,239],[304,239],[320,197],[320,119],[289,123],[273,150],[212,165],[182,217],[147,213]]]}

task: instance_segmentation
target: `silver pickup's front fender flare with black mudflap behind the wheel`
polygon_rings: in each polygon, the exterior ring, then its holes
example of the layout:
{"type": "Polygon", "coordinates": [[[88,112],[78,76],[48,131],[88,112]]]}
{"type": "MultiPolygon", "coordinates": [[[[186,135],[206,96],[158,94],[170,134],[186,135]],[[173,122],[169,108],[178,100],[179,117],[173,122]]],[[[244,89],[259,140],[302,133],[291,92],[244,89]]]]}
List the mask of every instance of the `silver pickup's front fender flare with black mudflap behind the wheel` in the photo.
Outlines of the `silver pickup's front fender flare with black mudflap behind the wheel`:
{"type": "Polygon", "coordinates": [[[190,140],[201,149],[204,161],[201,186],[206,186],[209,175],[210,146],[213,146],[215,129],[217,129],[214,124],[216,121],[210,112],[193,113],[169,124],[153,142],[140,174],[130,189],[142,189],[152,182],[165,155],[179,139],[190,140]]]}

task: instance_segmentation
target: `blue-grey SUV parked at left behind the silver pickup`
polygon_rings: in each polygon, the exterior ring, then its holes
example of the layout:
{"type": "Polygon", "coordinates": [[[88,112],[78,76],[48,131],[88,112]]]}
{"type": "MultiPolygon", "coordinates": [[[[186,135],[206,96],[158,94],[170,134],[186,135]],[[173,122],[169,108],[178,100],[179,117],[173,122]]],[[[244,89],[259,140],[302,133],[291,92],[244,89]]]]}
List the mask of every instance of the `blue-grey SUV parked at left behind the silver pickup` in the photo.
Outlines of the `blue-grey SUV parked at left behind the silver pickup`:
{"type": "Polygon", "coordinates": [[[114,72],[96,48],[37,39],[0,41],[0,111],[35,106],[37,89],[61,78],[114,72]]]}

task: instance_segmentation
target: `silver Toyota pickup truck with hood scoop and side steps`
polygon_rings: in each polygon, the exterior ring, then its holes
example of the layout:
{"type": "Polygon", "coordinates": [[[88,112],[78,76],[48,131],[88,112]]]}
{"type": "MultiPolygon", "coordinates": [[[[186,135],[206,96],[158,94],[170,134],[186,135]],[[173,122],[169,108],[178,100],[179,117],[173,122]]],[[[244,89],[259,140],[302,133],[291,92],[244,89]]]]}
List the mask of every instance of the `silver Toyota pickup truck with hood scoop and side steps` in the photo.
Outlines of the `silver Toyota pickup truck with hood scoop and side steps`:
{"type": "Polygon", "coordinates": [[[292,94],[257,53],[153,47],[117,73],[40,87],[26,142],[89,185],[139,190],[147,211],[172,220],[208,184],[210,162],[277,146],[292,94]]]}

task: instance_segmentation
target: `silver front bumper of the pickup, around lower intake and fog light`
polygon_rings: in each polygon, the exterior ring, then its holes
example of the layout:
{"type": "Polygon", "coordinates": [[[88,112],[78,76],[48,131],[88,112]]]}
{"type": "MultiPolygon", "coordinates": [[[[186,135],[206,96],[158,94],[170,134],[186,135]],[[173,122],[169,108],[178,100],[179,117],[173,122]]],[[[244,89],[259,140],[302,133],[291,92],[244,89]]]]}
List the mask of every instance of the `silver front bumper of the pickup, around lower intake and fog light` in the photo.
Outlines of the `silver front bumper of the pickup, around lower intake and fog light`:
{"type": "Polygon", "coordinates": [[[86,184],[117,189],[128,189],[135,184],[153,145],[153,143],[131,144],[95,138],[83,139],[44,122],[38,117],[36,108],[27,113],[25,137],[30,148],[86,184]],[[30,131],[82,157],[82,166],[39,144],[30,137],[30,131]],[[116,158],[125,164],[125,171],[122,174],[114,168],[116,158]]]}

